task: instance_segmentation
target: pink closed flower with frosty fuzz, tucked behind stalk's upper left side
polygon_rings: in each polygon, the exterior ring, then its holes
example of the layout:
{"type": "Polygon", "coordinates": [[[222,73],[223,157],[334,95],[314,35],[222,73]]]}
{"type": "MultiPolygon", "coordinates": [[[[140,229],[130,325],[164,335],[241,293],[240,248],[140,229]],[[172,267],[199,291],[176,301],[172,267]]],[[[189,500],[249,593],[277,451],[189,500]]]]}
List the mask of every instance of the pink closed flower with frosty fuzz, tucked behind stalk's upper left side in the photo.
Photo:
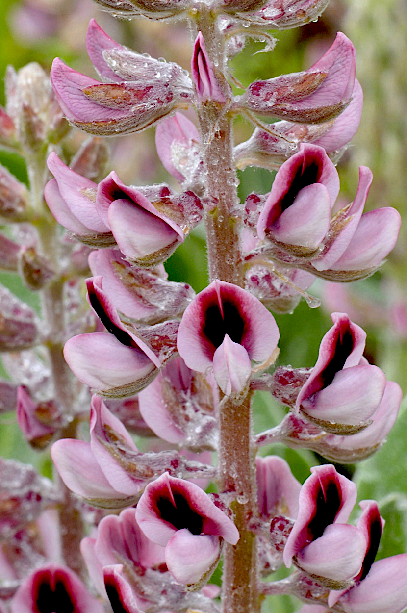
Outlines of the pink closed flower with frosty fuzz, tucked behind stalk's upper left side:
{"type": "Polygon", "coordinates": [[[202,167],[196,126],[182,113],[158,124],[156,149],[162,166],[180,183],[191,181],[202,167]]]}

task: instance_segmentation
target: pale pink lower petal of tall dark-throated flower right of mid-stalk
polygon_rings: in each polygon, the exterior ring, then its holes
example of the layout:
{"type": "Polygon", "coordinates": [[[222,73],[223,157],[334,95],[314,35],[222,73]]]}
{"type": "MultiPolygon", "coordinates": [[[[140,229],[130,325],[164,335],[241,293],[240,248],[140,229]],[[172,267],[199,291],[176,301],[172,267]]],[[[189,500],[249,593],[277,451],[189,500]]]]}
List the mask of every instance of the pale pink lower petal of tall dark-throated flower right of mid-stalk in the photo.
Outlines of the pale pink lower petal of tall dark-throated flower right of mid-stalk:
{"type": "Polygon", "coordinates": [[[386,377],[377,366],[352,366],[338,371],[329,386],[304,398],[301,407],[315,419],[358,425],[375,413],[385,387],[386,377]]]}

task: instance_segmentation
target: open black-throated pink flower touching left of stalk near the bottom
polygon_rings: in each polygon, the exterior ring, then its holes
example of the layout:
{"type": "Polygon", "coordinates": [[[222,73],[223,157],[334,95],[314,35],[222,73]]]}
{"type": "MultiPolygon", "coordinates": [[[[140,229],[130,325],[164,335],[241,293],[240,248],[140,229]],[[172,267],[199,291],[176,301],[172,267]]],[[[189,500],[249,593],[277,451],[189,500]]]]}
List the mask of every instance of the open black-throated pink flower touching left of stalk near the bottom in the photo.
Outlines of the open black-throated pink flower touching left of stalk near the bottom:
{"type": "Polygon", "coordinates": [[[147,485],[135,511],[141,530],[165,547],[165,562],[175,581],[196,584],[213,572],[221,541],[235,545],[234,523],[200,487],[162,474],[147,485]]]}

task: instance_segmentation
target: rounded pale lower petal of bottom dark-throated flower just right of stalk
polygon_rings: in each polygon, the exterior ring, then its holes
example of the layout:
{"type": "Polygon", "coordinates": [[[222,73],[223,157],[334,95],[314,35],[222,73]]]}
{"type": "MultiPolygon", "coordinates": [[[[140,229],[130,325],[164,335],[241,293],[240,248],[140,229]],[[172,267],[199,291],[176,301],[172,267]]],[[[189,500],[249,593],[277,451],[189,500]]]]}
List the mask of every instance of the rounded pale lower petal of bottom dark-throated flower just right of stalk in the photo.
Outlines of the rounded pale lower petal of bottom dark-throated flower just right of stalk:
{"type": "Polygon", "coordinates": [[[313,576],[346,581],[359,573],[365,550],[366,541],[358,528],[330,524],[320,538],[297,554],[297,562],[313,576]]]}

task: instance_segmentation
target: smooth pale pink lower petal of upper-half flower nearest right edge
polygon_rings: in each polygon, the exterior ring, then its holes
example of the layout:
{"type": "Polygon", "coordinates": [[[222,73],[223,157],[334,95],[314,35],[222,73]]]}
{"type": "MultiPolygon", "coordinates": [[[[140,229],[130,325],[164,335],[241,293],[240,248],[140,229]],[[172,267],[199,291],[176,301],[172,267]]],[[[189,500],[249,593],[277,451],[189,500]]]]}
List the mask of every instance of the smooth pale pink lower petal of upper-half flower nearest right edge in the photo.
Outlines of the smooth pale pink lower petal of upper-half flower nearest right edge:
{"type": "Polygon", "coordinates": [[[365,213],[348,247],[330,269],[360,270],[378,266],[394,248],[400,226],[400,213],[395,208],[384,207],[365,213]]]}

